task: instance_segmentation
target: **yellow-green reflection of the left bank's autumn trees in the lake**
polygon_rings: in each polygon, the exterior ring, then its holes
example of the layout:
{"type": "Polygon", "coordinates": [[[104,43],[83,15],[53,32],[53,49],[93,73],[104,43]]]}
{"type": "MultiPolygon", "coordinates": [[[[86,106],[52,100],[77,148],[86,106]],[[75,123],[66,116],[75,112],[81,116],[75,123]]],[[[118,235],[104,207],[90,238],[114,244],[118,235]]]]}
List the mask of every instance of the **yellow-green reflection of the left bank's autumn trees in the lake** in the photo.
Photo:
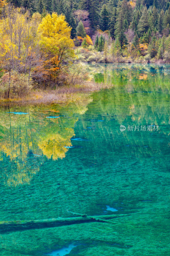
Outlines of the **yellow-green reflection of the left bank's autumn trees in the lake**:
{"type": "Polygon", "coordinates": [[[0,161],[4,183],[7,186],[29,183],[45,157],[53,160],[65,157],[75,135],[78,115],[85,113],[91,100],[88,95],[78,95],[63,106],[28,106],[19,110],[1,107],[0,161]],[[28,114],[15,114],[18,111],[28,114]]]}

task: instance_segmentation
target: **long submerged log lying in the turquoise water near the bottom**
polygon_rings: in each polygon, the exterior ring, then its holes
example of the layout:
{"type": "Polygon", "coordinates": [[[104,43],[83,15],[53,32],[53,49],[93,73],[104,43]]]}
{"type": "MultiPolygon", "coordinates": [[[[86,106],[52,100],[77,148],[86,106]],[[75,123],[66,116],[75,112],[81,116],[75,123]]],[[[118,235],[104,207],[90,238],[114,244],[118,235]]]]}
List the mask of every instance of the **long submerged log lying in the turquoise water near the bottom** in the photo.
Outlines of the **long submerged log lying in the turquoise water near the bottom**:
{"type": "MultiPolygon", "coordinates": [[[[80,215],[80,214],[79,214],[80,215]]],[[[102,215],[102,216],[87,216],[86,214],[81,217],[72,218],[56,218],[47,220],[14,220],[14,221],[0,221],[0,232],[15,231],[22,229],[32,228],[50,228],[50,227],[61,227],[66,225],[88,223],[88,222],[108,222],[115,224],[109,219],[127,216],[129,214],[116,214],[116,215],[102,215]]]]}

